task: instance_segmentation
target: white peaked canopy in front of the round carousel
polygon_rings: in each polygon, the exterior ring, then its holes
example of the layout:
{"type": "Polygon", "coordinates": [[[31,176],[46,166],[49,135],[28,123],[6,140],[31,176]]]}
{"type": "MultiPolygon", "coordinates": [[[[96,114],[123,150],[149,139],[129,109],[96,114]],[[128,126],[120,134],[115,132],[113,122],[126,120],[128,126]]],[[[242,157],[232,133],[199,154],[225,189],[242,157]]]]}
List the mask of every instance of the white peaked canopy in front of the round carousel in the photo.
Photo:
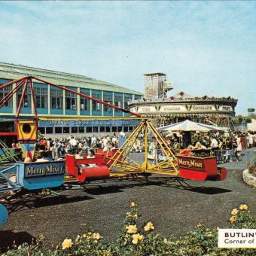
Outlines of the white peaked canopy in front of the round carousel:
{"type": "Polygon", "coordinates": [[[218,127],[207,125],[203,123],[195,123],[190,120],[184,120],[179,123],[172,123],[167,126],[159,127],[157,130],[160,131],[199,131],[199,132],[209,132],[218,130],[227,130],[226,127],[218,127]]]}

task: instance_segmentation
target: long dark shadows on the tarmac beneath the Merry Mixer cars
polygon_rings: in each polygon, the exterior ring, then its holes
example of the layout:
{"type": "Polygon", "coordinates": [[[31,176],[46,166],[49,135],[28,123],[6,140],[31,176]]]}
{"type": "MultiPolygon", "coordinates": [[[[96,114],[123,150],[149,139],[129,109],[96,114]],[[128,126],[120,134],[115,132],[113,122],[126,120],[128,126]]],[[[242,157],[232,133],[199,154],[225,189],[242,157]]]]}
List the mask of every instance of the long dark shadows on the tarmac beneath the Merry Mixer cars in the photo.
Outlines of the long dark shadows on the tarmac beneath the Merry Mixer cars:
{"type": "MultiPolygon", "coordinates": [[[[178,190],[189,190],[200,194],[223,194],[232,190],[223,189],[220,187],[195,187],[187,183],[187,180],[179,177],[150,177],[150,178],[132,178],[127,180],[108,180],[96,181],[89,184],[84,184],[81,187],[83,192],[90,195],[104,195],[123,193],[124,189],[132,187],[160,186],[170,187],[178,190]]],[[[67,203],[77,203],[86,200],[93,200],[94,197],[87,195],[66,197],[60,196],[44,196],[41,194],[20,194],[19,197],[7,202],[9,212],[14,212],[22,209],[36,209],[45,206],[63,205],[67,203]]]]}

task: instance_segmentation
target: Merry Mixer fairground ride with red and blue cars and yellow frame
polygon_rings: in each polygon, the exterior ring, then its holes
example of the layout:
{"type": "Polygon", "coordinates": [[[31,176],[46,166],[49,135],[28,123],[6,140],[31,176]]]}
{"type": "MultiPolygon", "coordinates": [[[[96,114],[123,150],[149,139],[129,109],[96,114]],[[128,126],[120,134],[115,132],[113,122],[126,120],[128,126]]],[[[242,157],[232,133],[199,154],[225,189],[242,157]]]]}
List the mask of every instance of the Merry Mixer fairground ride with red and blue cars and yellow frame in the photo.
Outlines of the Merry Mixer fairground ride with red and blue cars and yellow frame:
{"type": "MultiPolygon", "coordinates": [[[[78,93],[66,87],[44,81],[41,78],[27,76],[8,84],[0,86],[0,89],[17,84],[10,92],[0,99],[0,108],[5,105],[11,97],[15,96],[18,90],[22,90],[22,95],[17,108],[15,126],[17,130],[17,139],[23,156],[34,159],[35,146],[38,139],[38,117],[33,81],[39,81],[74,93],[78,96],[98,102],[102,105],[108,105],[119,111],[140,117],[141,123],[133,133],[126,139],[120,148],[111,152],[98,151],[93,159],[87,158],[76,160],[74,155],[66,155],[65,160],[49,162],[32,163],[11,163],[9,165],[0,164],[0,196],[6,195],[8,191],[20,190],[41,190],[51,187],[60,187],[63,184],[84,184],[86,181],[120,178],[120,177],[138,177],[142,175],[172,175],[176,178],[188,178],[197,181],[223,180],[226,177],[226,170],[217,167],[215,157],[188,157],[186,151],[183,155],[175,156],[172,148],[169,147],[163,136],[156,130],[153,124],[139,114],[124,108],[111,105],[83,93],[78,93]],[[20,120],[20,111],[26,90],[29,88],[32,96],[32,107],[35,117],[29,120],[20,120]],[[133,145],[137,140],[142,141],[143,151],[136,154],[131,152],[133,145]],[[155,147],[156,156],[161,155],[161,160],[152,161],[148,158],[149,145],[155,147]],[[67,178],[68,175],[68,178],[67,178]]],[[[1,132],[1,131],[0,131],[1,132]]],[[[7,211],[4,206],[0,207],[0,226],[7,219],[7,211]]]]}

